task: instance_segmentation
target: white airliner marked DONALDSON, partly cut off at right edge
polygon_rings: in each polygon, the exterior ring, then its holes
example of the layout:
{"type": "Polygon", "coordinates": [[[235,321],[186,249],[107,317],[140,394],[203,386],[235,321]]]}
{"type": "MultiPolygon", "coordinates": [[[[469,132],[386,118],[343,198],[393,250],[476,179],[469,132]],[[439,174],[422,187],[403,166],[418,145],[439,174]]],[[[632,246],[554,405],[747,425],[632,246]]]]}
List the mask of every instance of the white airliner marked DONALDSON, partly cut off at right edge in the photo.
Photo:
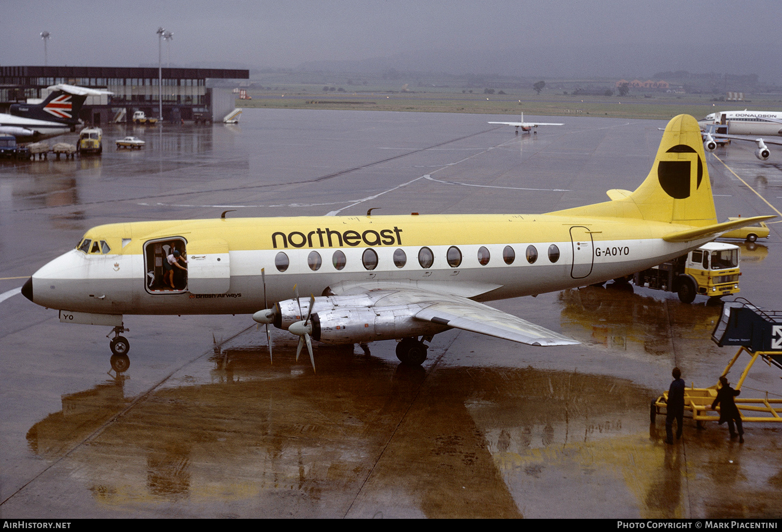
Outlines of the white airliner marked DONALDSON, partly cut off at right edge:
{"type": "Polygon", "coordinates": [[[762,137],[782,136],[782,112],[775,111],[722,111],[712,112],[698,121],[703,131],[703,145],[707,152],[713,152],[717,143],[724,141],[755,142],[758,149],[755,157],[765,161],[771,155],[766,142],[782,145],[780,140],[766,141],[762,137]],[[744,136],[742,136],[744,135],[744,136]]]}

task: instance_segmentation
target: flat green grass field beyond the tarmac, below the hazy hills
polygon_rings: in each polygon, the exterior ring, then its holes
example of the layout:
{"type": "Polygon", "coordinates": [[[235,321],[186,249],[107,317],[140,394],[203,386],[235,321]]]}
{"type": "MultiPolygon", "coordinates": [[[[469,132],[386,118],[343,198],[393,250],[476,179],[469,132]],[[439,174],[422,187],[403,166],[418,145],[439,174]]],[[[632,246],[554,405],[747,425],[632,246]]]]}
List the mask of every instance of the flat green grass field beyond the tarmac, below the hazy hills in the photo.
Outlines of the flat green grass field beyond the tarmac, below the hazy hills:
{"type": "MultiPolygon", "coordinates": [[[[755,98],[752,102],[712,102],[712,95],[572,96],[483,95],[442,92],[317,92],[294,87],[293,91],[249,91],[251,100],[236,100],[236,106],[274,109],[353,109],[412,112],[475,112],[493,115],[610,116],[668,120],[681,113],[697,118],[715,110],[779,110],[778,99],[755,98]]],[[[779,98],[778,95],[774,95],[779,98]]]]}

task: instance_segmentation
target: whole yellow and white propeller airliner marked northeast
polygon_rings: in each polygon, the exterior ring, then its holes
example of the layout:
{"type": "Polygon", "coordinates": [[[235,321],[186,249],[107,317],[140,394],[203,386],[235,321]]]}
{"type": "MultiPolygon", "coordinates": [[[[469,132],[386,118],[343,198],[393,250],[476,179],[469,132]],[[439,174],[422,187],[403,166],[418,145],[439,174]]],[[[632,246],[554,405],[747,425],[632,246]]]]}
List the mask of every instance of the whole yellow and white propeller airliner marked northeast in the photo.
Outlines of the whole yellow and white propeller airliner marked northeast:
{"type": "Polygon", "coordinates": [[[420,364],[423,341],[454,327],[529,345],[577,344],[484,302],[623,277],[774,217],[717,223],[701,132],[687,115],[669,122],[636,191],[608,196],[533,215],[114,223],[88,230],[22,293],[60,309],[61,321],[113,326],[110,346],[125,362],[124,314],[248,313],[267,325],[267,339],[271,323],[300,336],[313,368],[310,337],[396,339],[399,359],[420,364]],[[167,268],[185,264],[175,255],[187,256],[186,272],[167,268]],[[294,287],[310,298],[291,298],[294,287]]]}

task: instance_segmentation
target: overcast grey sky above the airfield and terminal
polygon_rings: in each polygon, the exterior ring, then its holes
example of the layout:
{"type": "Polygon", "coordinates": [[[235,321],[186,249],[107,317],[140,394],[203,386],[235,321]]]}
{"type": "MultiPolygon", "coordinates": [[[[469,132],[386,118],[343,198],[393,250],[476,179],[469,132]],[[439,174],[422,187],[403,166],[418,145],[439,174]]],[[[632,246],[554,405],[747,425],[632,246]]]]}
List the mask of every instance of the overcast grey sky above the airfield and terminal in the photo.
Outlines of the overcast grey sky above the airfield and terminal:
{"type": "Polygon", "coordinates": [[[163,26],[174,32],[172,66],[296,68],[382,57],[453,73],[640,77],[690,70],[757,73],[761,81],[782,83],[779,0],[3,0],[2,6],[2,65],[42,65],[43,30],[52,34],[50,65],[156,63],[155,31],[163,26]]]}

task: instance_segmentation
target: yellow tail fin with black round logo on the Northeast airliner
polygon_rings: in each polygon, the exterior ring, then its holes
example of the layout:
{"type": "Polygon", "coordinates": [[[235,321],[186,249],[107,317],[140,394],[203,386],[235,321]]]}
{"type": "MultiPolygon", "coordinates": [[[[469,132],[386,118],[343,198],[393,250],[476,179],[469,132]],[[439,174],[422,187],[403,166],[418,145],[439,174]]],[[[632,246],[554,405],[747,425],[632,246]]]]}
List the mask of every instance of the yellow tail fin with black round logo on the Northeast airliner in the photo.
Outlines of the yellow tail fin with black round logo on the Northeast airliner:
{"type": "Polygon", "coordinates": [[[611,202],[551,214],[640,218],[695,227],[716,223],[698,122],[690,115],[675,116],[665,127],[646,180],[630,195],[611,192],[611,202]]]}

